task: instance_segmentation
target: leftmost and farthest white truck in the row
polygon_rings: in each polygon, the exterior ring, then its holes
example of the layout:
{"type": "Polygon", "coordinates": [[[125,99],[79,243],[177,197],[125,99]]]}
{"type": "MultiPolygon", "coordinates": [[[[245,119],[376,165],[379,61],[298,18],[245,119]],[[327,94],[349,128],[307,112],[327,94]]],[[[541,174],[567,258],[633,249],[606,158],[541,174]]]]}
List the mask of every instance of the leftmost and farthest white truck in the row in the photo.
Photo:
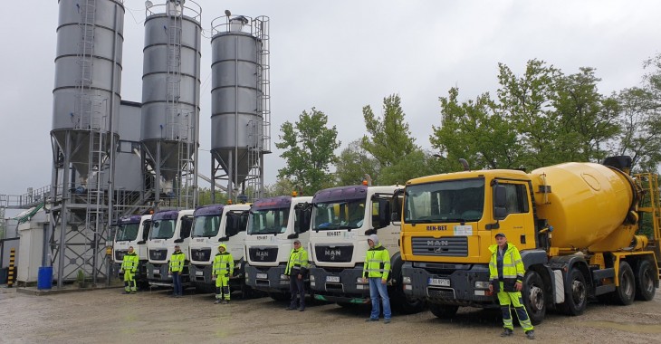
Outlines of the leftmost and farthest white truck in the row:
{"type": "MultiPolygon", "coordinates": [[[[147,287],[147,240],[149,238],[149,229],[151,228],[151,215],[130,215],[121,217],[117,222],[117,232],[112,244],[112,260],[115,264],[115,271],[120,272],[121,262],[124,260],[124,254],[129,252],[129,247],[139,256],[138,271],[136,272],[136,282],[139,287],[147,287]]],[[[124,278],[119,273],[120,279],[124,278]]]]}

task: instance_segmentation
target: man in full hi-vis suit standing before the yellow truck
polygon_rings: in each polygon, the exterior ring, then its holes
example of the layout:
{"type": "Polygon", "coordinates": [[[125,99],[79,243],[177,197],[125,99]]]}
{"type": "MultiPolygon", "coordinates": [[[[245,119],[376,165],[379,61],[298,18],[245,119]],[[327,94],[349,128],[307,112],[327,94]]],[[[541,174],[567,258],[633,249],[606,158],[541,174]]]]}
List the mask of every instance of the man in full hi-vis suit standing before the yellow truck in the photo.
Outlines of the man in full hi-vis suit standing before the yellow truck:
{"type": "Polygon", "coordinates": [[[521,290],[525,268],[519,250],[513,244],[507,243],[505,234],[495,234],[496,244],[489,246],[491,261],[489,262],[489,291],[498,293],[498,302],[503,311],[503,333],[501,337],[513,335],[512,311],[510,305],[516,310],[522,329],[528,339],[535,339],[532,322],[525,311],[521,290]]]}

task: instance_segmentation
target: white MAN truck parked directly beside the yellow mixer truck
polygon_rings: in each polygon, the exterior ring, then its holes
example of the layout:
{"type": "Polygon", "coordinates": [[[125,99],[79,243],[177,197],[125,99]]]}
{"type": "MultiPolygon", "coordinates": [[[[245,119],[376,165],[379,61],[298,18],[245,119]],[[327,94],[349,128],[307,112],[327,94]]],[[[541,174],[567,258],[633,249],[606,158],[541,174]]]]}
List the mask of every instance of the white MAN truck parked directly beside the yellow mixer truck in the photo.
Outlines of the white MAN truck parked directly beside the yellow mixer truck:
{"type": "Polygon", "coordinates": [[[401,186],[341,186],[318,191],[312,199],[310,287],[315,298],[340,305],[369,302],[362,282],[369,249],[377,234],[390,253],[388,296],[394,309],[421,311],[424,301],[407,300],[401,287],[399,225],[390,221],[393,194],[401,186]]]}

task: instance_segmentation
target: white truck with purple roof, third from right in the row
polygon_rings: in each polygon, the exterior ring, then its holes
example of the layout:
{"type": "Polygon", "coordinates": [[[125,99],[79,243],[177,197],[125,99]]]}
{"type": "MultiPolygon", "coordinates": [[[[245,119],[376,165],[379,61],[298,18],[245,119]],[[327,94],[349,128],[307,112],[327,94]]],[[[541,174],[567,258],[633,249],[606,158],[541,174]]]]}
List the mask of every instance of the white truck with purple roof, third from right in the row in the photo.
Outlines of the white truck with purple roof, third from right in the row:
{"type": "Polygon", "coordinates": [[[294,240],[308,248],[311,202],[311,196],[279,196],[254,202],[245,236],[247,285],[268,292],[274,300],[289,299],[289,277],[284,269],[294,240]]]}

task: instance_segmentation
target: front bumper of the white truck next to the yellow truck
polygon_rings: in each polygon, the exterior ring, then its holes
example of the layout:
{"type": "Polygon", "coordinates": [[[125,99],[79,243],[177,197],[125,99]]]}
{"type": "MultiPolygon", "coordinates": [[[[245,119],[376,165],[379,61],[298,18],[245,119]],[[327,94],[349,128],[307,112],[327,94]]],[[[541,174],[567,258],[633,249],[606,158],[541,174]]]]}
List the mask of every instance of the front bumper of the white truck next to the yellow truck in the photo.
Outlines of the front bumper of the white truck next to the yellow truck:
{"type": "Polygon", "coordinates": [[[317,300],[332,302],[367,303],[369,284],[359,283],[363,270],[360,268],[310,269],[310,289],[317,300]]]}

